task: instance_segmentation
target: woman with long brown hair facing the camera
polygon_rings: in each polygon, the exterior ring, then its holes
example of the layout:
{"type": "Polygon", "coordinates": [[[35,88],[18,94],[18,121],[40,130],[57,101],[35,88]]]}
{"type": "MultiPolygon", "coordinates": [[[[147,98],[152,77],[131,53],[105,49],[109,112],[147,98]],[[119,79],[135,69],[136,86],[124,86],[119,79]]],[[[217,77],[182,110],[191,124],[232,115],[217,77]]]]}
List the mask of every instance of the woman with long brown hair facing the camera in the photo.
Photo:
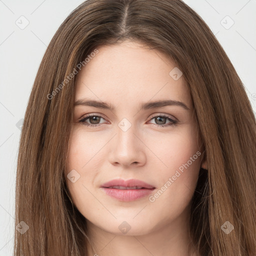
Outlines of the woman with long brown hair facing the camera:
{"type": "Polygon", "coordinates": [[[254,255],[255,117],[181,0],[87,0],[27,105],[15,255],[254,255]]]}

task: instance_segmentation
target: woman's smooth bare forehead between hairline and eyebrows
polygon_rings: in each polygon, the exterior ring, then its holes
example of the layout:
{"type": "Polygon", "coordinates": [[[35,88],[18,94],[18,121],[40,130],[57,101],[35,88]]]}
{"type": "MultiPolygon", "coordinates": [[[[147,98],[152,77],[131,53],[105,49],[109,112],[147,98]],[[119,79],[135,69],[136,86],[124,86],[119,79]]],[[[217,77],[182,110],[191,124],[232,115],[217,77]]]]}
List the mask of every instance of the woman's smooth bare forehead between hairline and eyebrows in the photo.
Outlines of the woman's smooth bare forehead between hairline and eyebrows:
{"type": "Polygon", "coordinates": [[[127,107],[127,103],[169,98],[191,107],[184,78],[173,79],[179,69],[163,53],[131,41],[97,50],[78,73],[75,101],[89,98],[127,107]]]}

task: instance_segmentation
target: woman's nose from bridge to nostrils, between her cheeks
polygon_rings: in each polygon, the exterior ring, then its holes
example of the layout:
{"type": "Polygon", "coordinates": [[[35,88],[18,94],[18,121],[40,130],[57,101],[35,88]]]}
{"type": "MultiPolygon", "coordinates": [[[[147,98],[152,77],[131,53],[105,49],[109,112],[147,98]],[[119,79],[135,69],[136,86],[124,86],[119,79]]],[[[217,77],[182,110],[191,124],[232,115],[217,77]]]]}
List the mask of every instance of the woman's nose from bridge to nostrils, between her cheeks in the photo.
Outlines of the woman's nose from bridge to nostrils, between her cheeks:
{"type": "Polygon", "coordinates": [[[112,138],[109,162],[122,167],[143,166],[146,162],[145,144],[141,133],[135,130],[134,125],[124,131],[116,128],[116,135],[112,138]]]}

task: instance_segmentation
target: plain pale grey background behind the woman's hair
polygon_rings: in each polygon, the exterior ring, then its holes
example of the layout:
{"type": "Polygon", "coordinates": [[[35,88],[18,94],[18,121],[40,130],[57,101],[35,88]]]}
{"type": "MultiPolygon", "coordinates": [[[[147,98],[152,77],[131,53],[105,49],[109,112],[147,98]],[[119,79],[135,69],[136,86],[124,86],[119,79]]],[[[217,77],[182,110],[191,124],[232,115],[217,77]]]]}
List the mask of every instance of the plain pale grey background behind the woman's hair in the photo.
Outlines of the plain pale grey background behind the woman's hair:
{"type": "MultiPolygon", "coordinates": [[[[0,0],[0,256],[12,255],[18,141],[32,84],[53,34],[81,2],[0,0]]],[[[216,35],[256,111],[256,0],[184,2],[216,35]]]]}

